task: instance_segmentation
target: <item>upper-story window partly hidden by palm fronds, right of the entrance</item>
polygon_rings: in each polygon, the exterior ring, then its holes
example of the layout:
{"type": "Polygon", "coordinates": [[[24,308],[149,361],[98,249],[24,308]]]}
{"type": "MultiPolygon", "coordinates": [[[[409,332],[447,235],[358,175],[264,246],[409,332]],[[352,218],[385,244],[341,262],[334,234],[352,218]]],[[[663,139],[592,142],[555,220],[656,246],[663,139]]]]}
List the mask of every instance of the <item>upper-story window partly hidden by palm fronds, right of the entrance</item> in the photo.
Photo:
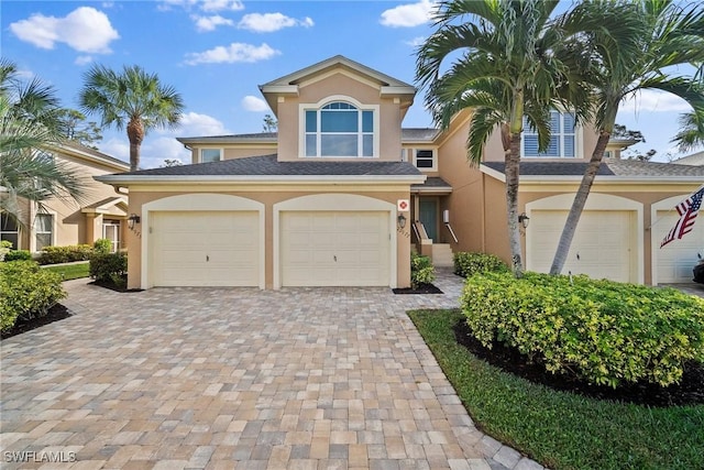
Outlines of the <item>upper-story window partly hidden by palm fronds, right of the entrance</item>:
{"type": "Polygon", "coordinates": [[[578,156],[578,133],[574,113],[550,111],[550,144],[538,152],[538,132],[524,118],[521,155],[543,159],[574,159],[578,156]]]}

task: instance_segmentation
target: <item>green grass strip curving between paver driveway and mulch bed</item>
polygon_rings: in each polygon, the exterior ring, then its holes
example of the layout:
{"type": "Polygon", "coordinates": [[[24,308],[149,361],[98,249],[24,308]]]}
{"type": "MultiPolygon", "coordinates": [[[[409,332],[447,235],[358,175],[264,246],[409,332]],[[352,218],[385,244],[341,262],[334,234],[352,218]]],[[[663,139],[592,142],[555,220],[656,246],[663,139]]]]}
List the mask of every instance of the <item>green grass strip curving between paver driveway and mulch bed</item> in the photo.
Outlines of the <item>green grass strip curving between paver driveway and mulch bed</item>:
{"type": "Polygon", "coordinates": [[[460,310],[408,314],[484,433],[551,469],[704,469],[704,405],[650,408],[558,392],[475,358],[460,310]]]}

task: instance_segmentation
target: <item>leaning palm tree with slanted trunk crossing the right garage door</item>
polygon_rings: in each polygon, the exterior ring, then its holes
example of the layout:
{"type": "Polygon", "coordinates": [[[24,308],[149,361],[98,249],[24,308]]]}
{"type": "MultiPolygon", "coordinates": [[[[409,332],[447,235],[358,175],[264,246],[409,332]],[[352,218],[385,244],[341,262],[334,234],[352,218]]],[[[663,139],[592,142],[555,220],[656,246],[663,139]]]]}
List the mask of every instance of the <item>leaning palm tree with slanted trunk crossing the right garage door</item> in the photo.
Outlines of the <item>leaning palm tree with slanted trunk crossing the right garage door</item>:
{"type": "MultiPolygon", "coordinates": [[[[587,2],[583,7],[591,11],[597,9],[600,2],[587,2]]],[[[620,30],[617,36],[592,34],[581,37],[582,51],[594,54],[588,85],[594,91],[598,140],[560,237],[551,274],[562,272],[624,98],[646,89],[668,91],[686,100],[697,113],[704,112],[704,89],[697,79],[670,74],[679,65],[704,63],[704,9],[701,3],[682,7],[671,0],[641,0],[624,1],[622,7],[628,10],[624,18],[638,21],[639,28],[620,30]],[[630,48],[632,45],[638,47],[636,53],[630,48]]],[[[701,75],[701,68],[697,75],[701,75]]]]}

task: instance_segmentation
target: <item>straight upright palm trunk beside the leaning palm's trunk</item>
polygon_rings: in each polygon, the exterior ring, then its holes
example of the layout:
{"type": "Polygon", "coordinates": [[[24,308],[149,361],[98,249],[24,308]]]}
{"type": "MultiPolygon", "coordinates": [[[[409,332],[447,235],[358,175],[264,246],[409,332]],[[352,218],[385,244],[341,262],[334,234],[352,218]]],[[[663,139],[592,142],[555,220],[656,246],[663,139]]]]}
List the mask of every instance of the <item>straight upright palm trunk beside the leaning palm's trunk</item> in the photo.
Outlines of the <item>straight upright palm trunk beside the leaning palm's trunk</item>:
{"type": "Polygon", "coordinates": [[[512,267],[516,277],[524,275],[520,231],[518,229],[518,183],[520,174],[520,132],[510,133],[510,151],[506,152],[506,212],[508,215],[508,243],[512,267]]]}

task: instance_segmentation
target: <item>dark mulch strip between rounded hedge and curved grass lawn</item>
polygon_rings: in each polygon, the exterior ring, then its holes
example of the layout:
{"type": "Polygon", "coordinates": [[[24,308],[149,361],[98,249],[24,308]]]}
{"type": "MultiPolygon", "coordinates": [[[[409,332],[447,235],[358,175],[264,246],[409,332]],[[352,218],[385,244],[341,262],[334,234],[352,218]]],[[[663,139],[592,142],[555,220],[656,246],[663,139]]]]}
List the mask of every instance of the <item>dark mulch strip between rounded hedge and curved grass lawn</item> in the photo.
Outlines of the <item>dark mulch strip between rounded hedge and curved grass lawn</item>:
{"type": "Polygon", "coordinates": [[[495,342],[492,349],[487,349],[471,336],[464,321],[460,321],[454,327],[454,332],[458,342],[477,358],[514,375],[554,390],[597,400],[654,407],[704,404],[704,367],[701,364],[688,364],[680,383],[668,387],[638,382],[612,389],[610,386],[592,385],[573,376],[548,372],[542,364],[528,362],[524,354],[503,343],[495,342]]]}

